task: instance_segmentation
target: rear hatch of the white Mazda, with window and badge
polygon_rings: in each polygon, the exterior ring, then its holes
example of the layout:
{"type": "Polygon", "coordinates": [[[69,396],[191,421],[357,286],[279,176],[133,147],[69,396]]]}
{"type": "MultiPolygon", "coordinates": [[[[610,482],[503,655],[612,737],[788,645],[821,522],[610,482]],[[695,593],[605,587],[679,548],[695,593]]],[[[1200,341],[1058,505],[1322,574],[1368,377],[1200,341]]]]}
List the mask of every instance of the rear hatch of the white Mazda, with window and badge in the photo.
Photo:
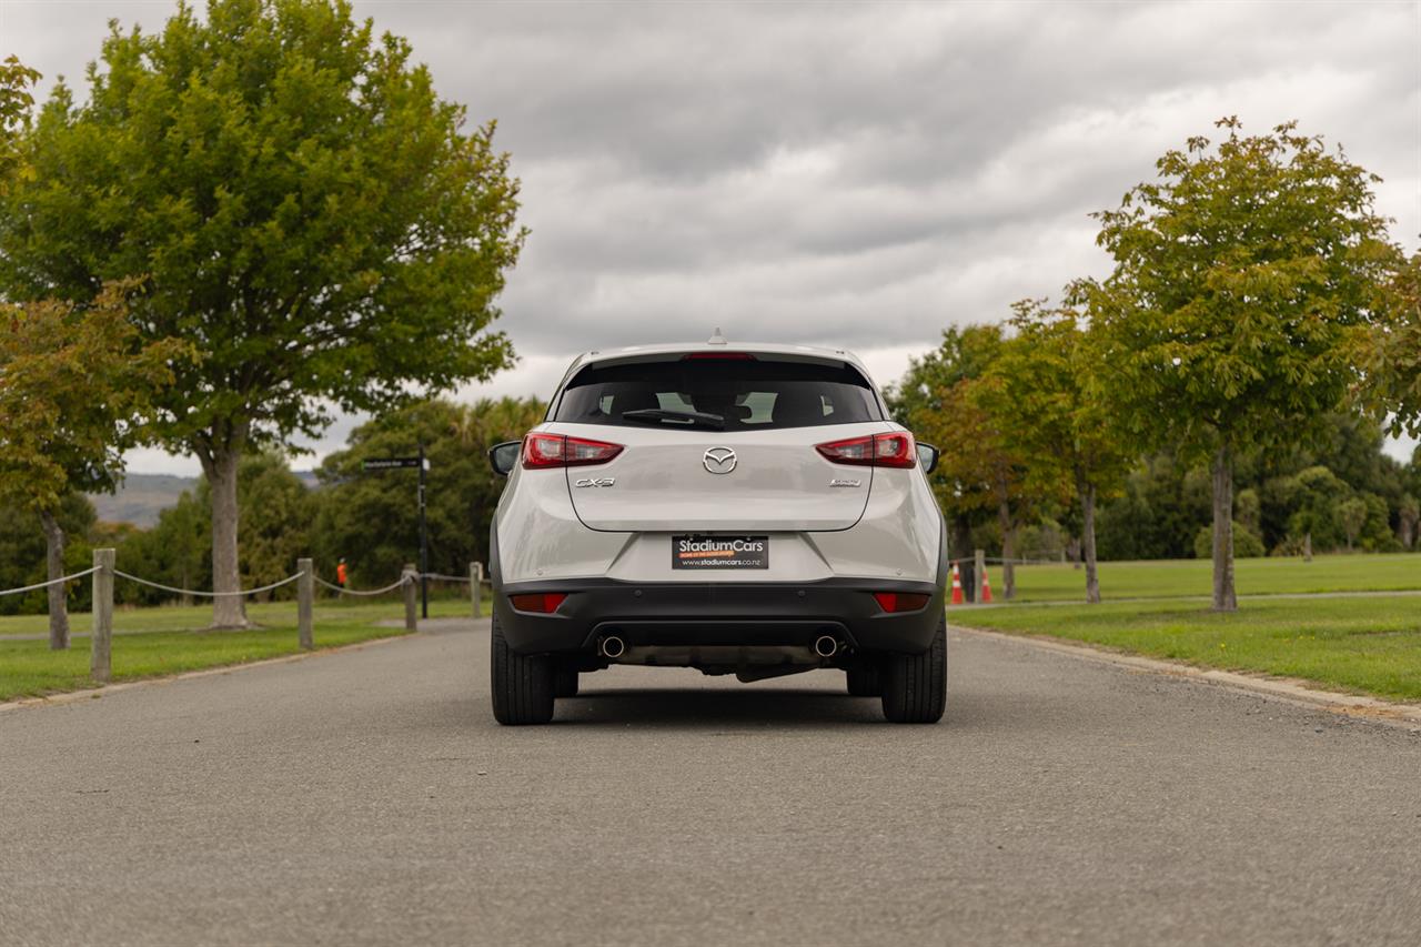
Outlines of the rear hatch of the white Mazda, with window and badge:
{"type": "Polygon", "coordinates": [[[887,428],[847,363],[695,353],[584,368],[543,429],[624,448],[567,468],[591,529],[750,533],[858,522],[872,468],[830,462],[816,446],[887,428]]]}

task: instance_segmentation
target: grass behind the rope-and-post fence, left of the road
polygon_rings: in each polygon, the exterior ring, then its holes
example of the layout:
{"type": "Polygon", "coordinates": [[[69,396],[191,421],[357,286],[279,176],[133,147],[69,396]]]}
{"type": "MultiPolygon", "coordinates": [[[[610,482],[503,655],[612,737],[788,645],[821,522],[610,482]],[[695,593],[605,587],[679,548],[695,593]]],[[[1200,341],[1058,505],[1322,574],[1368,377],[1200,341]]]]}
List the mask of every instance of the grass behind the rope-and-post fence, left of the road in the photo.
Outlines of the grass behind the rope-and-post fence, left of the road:
{"type": "MultiPolygon", "coordinates": [[[[487,607],[487,606],[485,606],[487,607]]],[[[398,599],[379,601],[318,601],[315,647],[337,647],[404,634],[404,627],[379,627],[381,620],[405,614],[398,599]]],[[[438,599],[431,617],[468,616],[469,603],[438,599]]],[[[296,654],[296,603],[249,604],[247,617],[263,627],[253,631],[203,631],[212,607],[128,609],[114,613],[112,668],[115,681],[179,674],[227,664],[296,654]]],[[[0,617],[0,636],[43,634],[45,616],[0,617]]],[[[88,631],[90,616],[70,616],[72,631],[88,631]]],[[[51,651],[44,640],[0,638],[0,701],[94,687],[88,675],[88,638],[72,638],[67,651],[51,651]]]]}

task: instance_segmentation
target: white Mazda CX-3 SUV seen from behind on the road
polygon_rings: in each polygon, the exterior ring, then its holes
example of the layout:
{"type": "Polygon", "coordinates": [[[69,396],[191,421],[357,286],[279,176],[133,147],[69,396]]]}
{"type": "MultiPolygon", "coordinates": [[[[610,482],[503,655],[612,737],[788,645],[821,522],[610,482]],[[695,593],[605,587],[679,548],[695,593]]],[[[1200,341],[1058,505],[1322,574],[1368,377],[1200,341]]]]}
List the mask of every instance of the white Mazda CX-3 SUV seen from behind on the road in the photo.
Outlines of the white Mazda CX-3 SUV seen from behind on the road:
{"type": "Polygon", "coordinates": [[[543,724],[578,674],[814,668],[899,722],[946,700],[938,452],[844,351],[588,353],[543,424],[489,451],[493,715],[543,724]]]}

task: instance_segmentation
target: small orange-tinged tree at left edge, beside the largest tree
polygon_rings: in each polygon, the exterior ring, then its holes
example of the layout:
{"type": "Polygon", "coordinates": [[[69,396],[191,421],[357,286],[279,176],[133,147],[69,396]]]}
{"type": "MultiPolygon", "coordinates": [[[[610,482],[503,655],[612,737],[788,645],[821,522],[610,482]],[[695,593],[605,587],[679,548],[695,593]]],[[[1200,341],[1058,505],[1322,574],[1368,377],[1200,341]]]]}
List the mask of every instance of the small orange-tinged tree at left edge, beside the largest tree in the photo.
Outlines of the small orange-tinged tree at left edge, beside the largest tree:
{"type": "MultiPolygon", "coordinates": [[[[38,515],[48,580],[64,574],[57,516],[64,499],[114,489],[124,448],[149,437],[152,398],[190,351],[172,340],[139,340],[128,319],[129,289],[108,284],[84,306],[0,306],[0,501],[38,515]]],[[[63,584],[48,596],[50,647],[67,648],[63,584]]]]}

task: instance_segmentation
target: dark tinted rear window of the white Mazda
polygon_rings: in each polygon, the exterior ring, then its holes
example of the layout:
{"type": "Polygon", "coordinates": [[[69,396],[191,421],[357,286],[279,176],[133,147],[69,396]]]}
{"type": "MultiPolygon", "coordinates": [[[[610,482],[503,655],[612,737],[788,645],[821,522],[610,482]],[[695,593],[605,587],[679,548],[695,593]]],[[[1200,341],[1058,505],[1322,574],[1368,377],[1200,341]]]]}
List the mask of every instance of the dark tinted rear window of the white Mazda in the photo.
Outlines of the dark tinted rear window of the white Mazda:
{"type": "Polygon", "coordinates": [[[868,382],[844,363],[685,360],[588,365],[554,421],[766,431],[881,421],[868,382]]]}

